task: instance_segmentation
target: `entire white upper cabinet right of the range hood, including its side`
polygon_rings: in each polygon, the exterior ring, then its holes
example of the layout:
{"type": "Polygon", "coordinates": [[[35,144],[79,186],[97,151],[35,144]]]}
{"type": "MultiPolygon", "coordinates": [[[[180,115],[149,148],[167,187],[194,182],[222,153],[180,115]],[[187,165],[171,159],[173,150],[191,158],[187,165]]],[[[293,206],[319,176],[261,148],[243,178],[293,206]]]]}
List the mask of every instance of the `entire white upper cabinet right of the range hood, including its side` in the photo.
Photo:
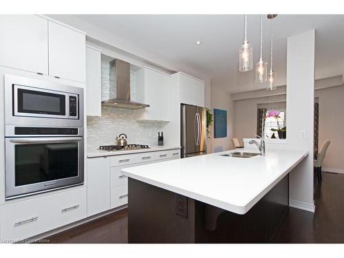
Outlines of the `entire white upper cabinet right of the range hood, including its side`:
{"type": "Polygon", "coordinates": [[[143,109],[142,120],[169,121],[170,76],[163,72],[143,67],[137,72],[138,102],[148,104],[143,109]]]}

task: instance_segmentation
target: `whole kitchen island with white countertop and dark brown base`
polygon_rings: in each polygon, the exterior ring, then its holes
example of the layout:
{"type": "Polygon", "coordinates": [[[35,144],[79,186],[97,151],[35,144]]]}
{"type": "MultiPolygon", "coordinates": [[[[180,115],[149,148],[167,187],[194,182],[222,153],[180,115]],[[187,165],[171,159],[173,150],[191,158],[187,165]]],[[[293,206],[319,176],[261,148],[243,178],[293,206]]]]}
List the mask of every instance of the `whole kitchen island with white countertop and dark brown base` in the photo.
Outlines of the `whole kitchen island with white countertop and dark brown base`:
{"type": "Polygon", "coordinates": [[[288,211],[288,174],[308,151],[226,156],[235,151],[122,169],[129,243],[268,242],[288,211]]]}

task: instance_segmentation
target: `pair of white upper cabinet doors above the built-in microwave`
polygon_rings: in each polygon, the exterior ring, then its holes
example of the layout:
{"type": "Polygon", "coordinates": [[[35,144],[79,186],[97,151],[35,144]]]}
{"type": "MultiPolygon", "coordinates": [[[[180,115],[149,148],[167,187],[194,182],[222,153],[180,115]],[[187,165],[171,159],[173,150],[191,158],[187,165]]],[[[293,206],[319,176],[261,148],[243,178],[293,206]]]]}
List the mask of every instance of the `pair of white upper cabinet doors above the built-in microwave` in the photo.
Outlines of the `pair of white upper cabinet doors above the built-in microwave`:
{"type": "Polygon", "coordinates": [[[85,34],[37,15],[0,15],[0,65],[86,81],[85,34]]]}

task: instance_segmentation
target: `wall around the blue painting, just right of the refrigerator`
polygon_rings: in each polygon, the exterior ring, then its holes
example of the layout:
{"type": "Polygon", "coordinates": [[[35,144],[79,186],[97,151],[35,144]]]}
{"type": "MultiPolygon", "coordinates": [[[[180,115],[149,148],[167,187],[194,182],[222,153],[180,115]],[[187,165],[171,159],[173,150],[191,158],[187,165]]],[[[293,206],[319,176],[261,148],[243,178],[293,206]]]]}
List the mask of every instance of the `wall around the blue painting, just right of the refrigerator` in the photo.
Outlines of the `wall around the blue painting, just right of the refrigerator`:
{"type": "Polygon", "coordinates": [[[214,109],[224,109],[227,111],[227,137],[214,138],[214,129],[211,127],[211,142],[208,146],[208,152],[226,151],[233,149],[233,122],[234,122],[234,105],[232,96],[222,89],[217,88],[215,85],[211,85],[211,111],[214,113],[214,109]]]}

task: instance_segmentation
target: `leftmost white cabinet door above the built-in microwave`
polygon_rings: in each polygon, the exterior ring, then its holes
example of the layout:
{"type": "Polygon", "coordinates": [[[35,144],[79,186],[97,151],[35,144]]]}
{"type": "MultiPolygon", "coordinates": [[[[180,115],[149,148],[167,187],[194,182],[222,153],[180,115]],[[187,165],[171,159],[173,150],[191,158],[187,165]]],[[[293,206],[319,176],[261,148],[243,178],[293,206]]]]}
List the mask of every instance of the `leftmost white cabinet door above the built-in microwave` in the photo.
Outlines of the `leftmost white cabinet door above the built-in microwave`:
{"type": "Polygon", "coordinates": [[[47,20],[36,15],[0,15],[0,65],[48,73],[47,20]]]}

